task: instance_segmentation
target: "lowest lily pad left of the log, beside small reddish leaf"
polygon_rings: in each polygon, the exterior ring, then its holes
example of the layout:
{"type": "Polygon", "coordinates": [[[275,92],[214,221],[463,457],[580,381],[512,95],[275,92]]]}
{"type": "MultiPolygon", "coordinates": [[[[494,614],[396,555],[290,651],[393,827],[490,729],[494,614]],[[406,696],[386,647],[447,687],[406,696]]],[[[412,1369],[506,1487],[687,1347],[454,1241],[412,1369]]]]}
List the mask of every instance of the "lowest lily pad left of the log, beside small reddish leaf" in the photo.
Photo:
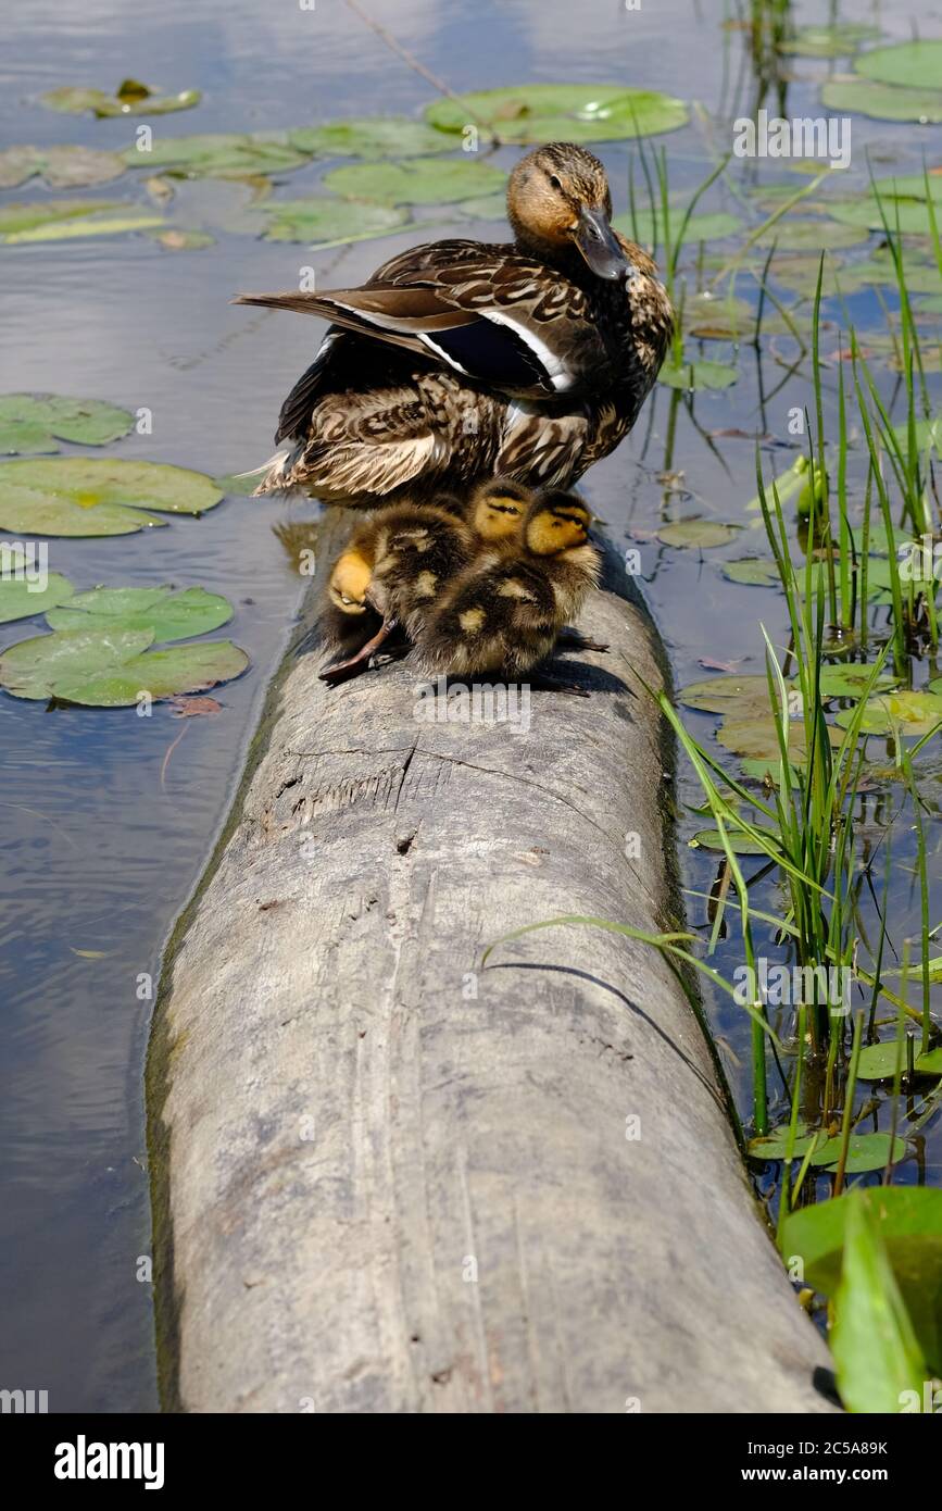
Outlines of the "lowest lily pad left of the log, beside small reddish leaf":
{"type": "Polygon", "coordinates": [[[17,698],[127,707],[140,692],[171,698],[239,677],[249,663],[231,641],[148,651],[152,630],[66,630],[20,641],[0,656],[0,686],[17,698]]]}

